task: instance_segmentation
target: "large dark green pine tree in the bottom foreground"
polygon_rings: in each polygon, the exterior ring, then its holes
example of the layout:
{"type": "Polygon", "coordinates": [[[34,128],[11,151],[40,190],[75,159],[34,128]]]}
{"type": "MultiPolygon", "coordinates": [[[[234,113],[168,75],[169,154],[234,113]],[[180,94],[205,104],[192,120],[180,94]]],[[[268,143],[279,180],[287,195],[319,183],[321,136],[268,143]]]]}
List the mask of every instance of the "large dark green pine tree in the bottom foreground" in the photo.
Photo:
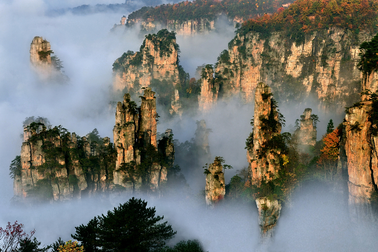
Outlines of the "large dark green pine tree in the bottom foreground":
{"type": "Polygon", "coordinates": [[[155,213],[155,207],[147,208],[147,202],[133,197],[106,216],[97,216],[87,225],[75,227],[72,237],[81,241],[87,252],[159,249],[176,232],[167,222],[159,223],[164,217],[155,217],[155,213]]]}

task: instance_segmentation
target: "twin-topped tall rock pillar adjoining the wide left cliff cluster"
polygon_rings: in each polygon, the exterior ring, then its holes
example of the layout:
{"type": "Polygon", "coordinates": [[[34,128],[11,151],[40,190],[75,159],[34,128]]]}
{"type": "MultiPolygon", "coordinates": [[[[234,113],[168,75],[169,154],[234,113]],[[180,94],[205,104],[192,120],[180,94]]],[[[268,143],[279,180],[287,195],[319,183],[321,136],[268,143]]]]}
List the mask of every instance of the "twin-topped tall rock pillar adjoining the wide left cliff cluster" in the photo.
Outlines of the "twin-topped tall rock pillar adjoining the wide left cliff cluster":
{"type": "Polygon", "coordinates": [[[167,168],[173,165],[171,131],[159,143],[156,139],[154,95],[151,88],[146,88],[140,108],[129,94],[124,95],[123,103],[117,104],[113,129],[117,159],[113,182],[129,193],[141,190],[160,193],[160,185],[167,180],[167,168]]]}

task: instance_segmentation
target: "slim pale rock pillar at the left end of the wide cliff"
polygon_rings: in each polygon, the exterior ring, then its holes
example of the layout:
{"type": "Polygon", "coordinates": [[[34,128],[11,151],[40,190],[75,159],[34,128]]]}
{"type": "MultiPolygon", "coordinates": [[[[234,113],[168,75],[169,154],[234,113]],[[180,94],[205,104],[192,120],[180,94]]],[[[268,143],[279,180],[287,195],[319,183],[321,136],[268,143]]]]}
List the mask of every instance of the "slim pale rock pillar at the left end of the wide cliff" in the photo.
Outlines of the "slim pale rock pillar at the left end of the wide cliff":
{"type": "Polygon", "coordinates": [[[218,100],[219,86],[214,81],[214,69],[212,65],[202,68],[201,95],[198,97],[199,110],[212,112],[218,100]]]}

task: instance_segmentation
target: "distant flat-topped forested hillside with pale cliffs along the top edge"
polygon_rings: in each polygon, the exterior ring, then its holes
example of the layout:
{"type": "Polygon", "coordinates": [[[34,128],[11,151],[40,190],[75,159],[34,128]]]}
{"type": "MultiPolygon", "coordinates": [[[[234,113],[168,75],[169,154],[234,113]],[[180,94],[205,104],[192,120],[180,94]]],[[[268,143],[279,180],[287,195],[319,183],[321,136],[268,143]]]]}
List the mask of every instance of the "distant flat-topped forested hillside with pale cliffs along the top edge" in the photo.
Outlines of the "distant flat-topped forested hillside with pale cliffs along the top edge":
{"type": "Polygon", "coordinates": [[[191,30],[197,29],[197,31],[202,32],[202,30],[214,29],[214,26],[212,24],[209,25],[209,23],[214,22],[221,14],[227,15],[230,21],[241,22],[266,13],[275,13],[283,5],[289,6],[291,2],[290,0],[186,1],[177,4],[163,4],[156,7],[143,7],[131,13],[127,20],[124,16],[121,24],[133,26],[140,22],[143,26],[142,30],[151,31],[157,25],[162,25],[161,28],[181,29],[181,24],[191,22],[186,25],[197,26],[194,28],[189,27],[191,30]]]}

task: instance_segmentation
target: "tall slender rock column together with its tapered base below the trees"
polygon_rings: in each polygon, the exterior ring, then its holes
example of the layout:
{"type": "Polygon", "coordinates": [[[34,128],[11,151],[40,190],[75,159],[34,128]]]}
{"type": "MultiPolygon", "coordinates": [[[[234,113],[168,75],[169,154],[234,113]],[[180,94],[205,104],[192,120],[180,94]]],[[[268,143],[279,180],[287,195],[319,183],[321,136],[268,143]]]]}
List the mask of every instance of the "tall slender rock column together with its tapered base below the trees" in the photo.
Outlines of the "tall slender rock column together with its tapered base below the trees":
{"type": "MultiPolygon", "coordinates": [[[[254,129],[247,139],[247,160],[251,183],[260,187],[273,180],[280,169],[280,149],[269,147],[269,141],[281,132],[280,113],[272,98],[271,89],[264,83],[257,85],[255,93],[254,129]]],[[[260,243],[271,240],[281,205],[266,197],[256,199],[259,210],[260,243]]]]}

